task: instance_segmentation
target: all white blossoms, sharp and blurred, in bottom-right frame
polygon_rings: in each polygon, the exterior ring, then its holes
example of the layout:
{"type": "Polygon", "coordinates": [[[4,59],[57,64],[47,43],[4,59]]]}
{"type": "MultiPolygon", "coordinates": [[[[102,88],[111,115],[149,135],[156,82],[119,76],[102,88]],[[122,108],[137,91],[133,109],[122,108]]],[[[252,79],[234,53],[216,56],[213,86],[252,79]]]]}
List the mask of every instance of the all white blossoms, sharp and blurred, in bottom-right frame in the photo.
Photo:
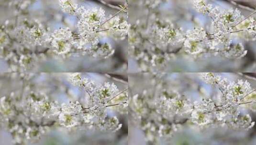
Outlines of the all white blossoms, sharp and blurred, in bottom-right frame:
{"type": "Polygon", "coordinates": [[[202,78],[219,88],[217,99],[203,97],[201,101],[191,101],[174,89],[175,84],[168,89],[164,87],[166,83],[159,81],[155,81],[157,85],[153,88],[157,93],[152,94],[152,89],[144,90],[131,97],[129,107],[133,121],[145,132],[147,141],[156,143],[159,137],[170,138],[186,124],[194,124],[200,129],[228,127],[247,130],[254,126],[249,114],[240,113],[240,106],[253,103],[244,100],[252,93],[247,81],[229,82],[213,73],[203,73],[202,78]]]}

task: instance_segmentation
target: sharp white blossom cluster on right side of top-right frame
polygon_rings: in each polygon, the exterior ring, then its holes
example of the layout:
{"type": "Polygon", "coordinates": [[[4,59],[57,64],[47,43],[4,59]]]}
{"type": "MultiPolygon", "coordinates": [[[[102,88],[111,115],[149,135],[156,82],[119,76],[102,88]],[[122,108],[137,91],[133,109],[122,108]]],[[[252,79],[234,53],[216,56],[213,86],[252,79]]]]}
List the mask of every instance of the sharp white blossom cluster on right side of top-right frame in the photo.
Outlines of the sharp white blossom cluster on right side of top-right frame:
{"type": "MultiPolygon", "coordinates": [[[[211,52],[223,52],[221,55],[227,58],[244,57],[247,51],[245,51],[242,43],[238,43],[234,47],[231,47],[232,33],[240,30],[255,33],[252,32],[254,28],[254,21],[249,21],[249,23],[247,22],[246,28],[240,29],[241,27],[237,25],[240,24],[240,22],[244,22],[242,21],[244,16],[241,15],[241,12],[238,9],[234,10],[230,8],[227,10],[220,10],[219,7],[212,8],[211,4],[207,4],[205,0],[194,0],[194,5],[196,10],[207,14],[209,17],[211,17],[212,20],[212,28],[208,32],[212,34],[208,35],[208,41],[206,41],[206,43],[203,45],[206,48],[209,46],[211,52]],[[211,41],[209,41],[209,39],[211,41]]],[[[250,17],[247,19],[250,20],[253,18],[250,17]]],[[[195,33],[195,35],[196,34],[197,33],[195,33]]],[[[206,38],[206,36],[204,36],[204,38],[206,38]]],[[[203,40],[201,39],[201,41],[203,40]]]]}

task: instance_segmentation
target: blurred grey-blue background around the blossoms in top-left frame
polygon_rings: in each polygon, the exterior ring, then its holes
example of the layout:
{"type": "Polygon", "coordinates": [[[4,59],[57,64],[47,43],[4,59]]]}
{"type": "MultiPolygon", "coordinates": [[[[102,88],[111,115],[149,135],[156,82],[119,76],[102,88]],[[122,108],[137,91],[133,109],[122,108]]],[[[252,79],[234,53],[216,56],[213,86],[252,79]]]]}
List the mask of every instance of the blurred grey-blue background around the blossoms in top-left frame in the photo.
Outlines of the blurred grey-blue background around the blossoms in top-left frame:
{"type": "MultiPolygon", "coordinates": [[[[15,1],[15,0],[13,0],[15,1]]],[[[59,28],[69,27],[73,30],[76,27],[77,18],[62,12],[59,0],[36,0],[28,11],[29,17],[32,19],[40,19],[43,23],[54,31],[59,28]]],[[[111,5],[124,5],[125,0],[73,0],[78,6],[84,6],[91,9],[93,7],[105,10],[106,16],[113,15],[118,10],[111,8],[111,5]]],[[[8,9],[9,0],[0,0],[0,24],[4,24],[6,20],[13,19],[14,12],[8,9]]],[[[119,16],[127,17],[125,13],[119,16]]],[[[87,55],[73,54],[69,58],[62,58],[58,55],[46,57],[39,61],[37,65],[28,68],[27,72],[116,72],[123,73],[127,70],[128,47],[127,39],[123,41],[115,41],[111,38],[102,38],[101,42],[110,42],[115,53],[108,59],[97,59],[87,55]]],[[[0,72],[8,72],[8,64],[0,59],[0,72]]]]}

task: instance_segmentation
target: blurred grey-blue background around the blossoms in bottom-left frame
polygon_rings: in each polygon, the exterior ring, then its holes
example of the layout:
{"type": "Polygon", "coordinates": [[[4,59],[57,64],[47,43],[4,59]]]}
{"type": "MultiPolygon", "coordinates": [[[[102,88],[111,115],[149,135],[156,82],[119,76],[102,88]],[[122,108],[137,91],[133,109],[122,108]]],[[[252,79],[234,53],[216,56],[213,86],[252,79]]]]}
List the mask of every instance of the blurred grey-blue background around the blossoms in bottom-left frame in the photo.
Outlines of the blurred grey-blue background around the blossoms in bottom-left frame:
{"type": "MultiPolygon", "coordinates": [[[[25,73],[25,75],[30,78],[29,86],[33,92],[44,92],[50,100],[56,100],[59,104],[79,100],[87,95],[68,81],[69,73],[25,73]]],[[[82,77],[89,78],[96,84],[115,83],[119,90],[127,88],[126,74],[82,73],[82,77]]],[[[21,93],[22,85],[21,73],[0,73],[0,97],[11,92],[21,93]]],[[[127,114],[119,114],[112,109],[108,109],[107,113],[109,116],[117,116],[122,124],[119,131],[115,133],[83,129],[68,131],[61,127],[53,127],[49,133],[41,136],[39,142],[29,142],[28,145],[127,145],[127,114]]],[[[0,145],[12,145],[11,134],[2,128],[0,128],[0,145]]]]}

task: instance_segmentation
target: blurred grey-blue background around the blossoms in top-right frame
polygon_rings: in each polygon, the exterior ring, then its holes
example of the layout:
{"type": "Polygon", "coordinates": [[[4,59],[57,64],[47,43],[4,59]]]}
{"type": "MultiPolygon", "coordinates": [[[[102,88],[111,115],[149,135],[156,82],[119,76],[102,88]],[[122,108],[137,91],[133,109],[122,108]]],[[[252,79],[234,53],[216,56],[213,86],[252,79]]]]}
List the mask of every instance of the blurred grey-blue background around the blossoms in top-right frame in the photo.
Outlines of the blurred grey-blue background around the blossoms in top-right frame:
{"type": "MultiPolygon", "coordinates": [[[[165,1],[165,0],[162,0],[165,1]]],[[[184,31],[193,30],[194,27],[205,27],[209,25],[211,19],[197,12],[192,5],[193,0],[166,0],[159,7],[151,10],[157,13],[160,20],[172,21],[174,25],[182,27],[184,31]]],[[[256,8],[256,0],[206,0],[213,7],[218,6],[222,9],[238,8],[244,16],[249,15],[256,8]],[[238,5],[235,5],[236,2],[238,5]],[[246,7],[246,8],[245,8],[246,7]],[[249,7],[249,9],[248,9],[249,7]]],[[[136,21],[146,23],[149,13],[146,6],[139,4],[140,0],[130,0],[129,2],[129,21],[136,24],[136,21]]],[[[145,2],[144,2],[145,3],[145,2]]],[[[254,17],[256,17],[254,15],[254,17]]],[[[226,59],[220,56],[199,57],[194,59],[192,55],[180,51],[171,55],[166,65],[153,69],[153,72],[255,72],[256,71],[256,42],[241,41],[247,55],[242,59],[226,59]]],[[[147,65],[147,64],[146,64],[147,65]]],[[[150,64],[149,64],[150,65],[150,64]]],[[[146,67],[146,66],[145,66],[146,67]]],[[[151,66],[149,66],[151,67],[151,66]]],[[[142,72],[139,62],[131,54],[129,55],[129,72],[142,72]]]]}

